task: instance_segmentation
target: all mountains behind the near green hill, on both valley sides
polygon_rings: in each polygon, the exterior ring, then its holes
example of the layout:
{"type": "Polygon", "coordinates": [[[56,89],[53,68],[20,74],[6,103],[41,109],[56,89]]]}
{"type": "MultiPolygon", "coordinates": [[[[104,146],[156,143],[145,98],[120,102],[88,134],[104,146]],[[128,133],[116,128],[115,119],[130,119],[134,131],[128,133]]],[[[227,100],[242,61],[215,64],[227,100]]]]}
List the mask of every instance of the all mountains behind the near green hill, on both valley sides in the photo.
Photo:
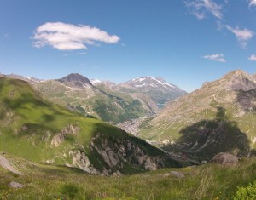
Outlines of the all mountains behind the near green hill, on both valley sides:
{"type": "Polygon", "coordinates": [[[87,117],[108,123],[128,120],[125,130],[170,154],[198,161],[209,161],[220,151],[256,155],[255,75],[231,71],[190,94],[160,77],[93,83],[70,74],[31,84],[38,94],[87,117]]]}

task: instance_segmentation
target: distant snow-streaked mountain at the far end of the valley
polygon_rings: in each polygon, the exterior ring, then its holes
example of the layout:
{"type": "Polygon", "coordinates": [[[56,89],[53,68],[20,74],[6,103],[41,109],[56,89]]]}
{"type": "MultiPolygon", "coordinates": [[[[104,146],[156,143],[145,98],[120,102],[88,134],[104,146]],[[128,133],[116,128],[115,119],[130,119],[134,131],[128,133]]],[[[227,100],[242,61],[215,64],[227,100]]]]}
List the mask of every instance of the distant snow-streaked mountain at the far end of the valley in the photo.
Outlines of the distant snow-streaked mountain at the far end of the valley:
{"type": "Polygon", "coordinates": [[[120,91],[133,89],[137,92],[147,94],[160,108],[166,102],[187,94],[184,90],[179,89],[177,85],[167,83],[162,77],[137,77],[131,81],[120,83],[118,88],[120,91]]]}

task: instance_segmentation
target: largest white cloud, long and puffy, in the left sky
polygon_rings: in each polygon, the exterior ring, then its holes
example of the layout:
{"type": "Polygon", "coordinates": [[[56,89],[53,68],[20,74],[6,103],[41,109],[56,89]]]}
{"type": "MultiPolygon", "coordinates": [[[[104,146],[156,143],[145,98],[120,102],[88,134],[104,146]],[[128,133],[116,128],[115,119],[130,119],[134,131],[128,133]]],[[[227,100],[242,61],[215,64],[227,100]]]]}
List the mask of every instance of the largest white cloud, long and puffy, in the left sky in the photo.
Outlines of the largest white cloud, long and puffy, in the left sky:
{"type": "Polygon", "coordinates": [[[61,22],[48,22],[39,26],[32,37],[33,46],[41,48],[46,45],[59,50],[87,49],[87,45],[96,42],[118,43],[119,37],[109,35],[96,27],[72,25],[61,22]]]}

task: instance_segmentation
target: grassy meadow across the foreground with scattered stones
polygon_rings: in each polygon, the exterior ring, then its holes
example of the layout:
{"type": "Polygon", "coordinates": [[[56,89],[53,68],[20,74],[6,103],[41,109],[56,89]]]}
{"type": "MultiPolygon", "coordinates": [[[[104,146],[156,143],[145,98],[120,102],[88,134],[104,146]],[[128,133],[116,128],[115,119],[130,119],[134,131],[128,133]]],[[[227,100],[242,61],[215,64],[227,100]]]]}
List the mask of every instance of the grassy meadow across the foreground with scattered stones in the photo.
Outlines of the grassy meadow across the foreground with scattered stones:
{"type": "Polygon", "coordinates": [[[255,158],[234,166],[206,164],[121,177],[8,158],[23,175],[0,167],[0,199],[233,199],[238,186],[256,180],[255,158]],[[12,181],[24,187],[11,188],[12,181]]]}

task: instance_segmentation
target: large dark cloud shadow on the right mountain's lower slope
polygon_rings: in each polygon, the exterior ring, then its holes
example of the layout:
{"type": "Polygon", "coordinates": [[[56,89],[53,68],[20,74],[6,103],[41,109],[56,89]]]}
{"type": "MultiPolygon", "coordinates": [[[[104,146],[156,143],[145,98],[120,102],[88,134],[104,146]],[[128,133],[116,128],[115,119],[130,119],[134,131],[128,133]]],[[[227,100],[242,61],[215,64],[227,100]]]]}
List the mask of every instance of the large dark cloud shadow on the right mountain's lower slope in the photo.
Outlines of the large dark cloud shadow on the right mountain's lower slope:
{"type": "Polygon", "coordinates": [[[165,146],[168,151],[182,151],[184,157],[209,160],[218,152],[231,152],[247,156],[250,141],[242,133],[237,123],[229,121],[225,109],[218,106],[213,120],[202,120],[180,131],[176,144],[165,146]]]}

